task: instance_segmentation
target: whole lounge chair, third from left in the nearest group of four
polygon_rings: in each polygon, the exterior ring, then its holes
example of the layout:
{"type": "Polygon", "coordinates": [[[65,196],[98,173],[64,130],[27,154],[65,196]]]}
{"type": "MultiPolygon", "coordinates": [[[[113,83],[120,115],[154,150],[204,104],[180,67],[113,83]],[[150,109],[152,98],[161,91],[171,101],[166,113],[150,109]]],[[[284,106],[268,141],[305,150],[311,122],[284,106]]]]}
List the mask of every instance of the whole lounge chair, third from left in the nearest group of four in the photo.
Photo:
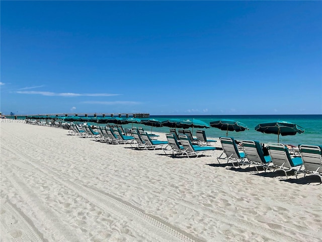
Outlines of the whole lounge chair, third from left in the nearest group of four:
{"type": "Polygon", "coordinates": [[[303,164],[301,157],[291,157],[287,147],[281,143],[268,143],[268,153],[272,164],[265,165],[264,169],[282,170],[287,178],[287,171],[299,170],[303,164]]]}

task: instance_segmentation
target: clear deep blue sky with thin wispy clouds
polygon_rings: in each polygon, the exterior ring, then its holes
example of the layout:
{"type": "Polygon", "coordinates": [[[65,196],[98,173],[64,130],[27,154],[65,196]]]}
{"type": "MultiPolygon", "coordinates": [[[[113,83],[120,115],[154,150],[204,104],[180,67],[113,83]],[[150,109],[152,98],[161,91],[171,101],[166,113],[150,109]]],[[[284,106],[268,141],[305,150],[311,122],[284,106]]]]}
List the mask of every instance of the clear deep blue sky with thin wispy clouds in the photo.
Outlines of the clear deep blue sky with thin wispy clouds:
{"type": "Polygon", "coordinates": [[[5,114],[322,114],[321,1],[0,4],[5,114]]]}

